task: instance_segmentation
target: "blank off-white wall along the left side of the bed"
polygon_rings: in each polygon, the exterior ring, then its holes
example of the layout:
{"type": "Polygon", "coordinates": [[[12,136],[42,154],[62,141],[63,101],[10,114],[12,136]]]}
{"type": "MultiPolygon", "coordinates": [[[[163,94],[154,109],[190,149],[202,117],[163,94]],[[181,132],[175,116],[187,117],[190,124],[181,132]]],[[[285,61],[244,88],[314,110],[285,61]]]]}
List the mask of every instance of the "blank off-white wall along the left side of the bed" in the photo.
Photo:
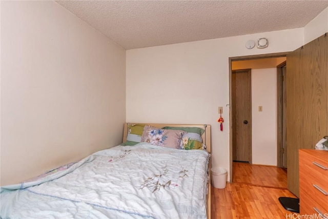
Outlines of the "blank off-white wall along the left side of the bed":
{"type": "Polygon", "coordinates": [[[121,143],[125,61],[56,2],[1,1],[1,184],[121,143]]]}

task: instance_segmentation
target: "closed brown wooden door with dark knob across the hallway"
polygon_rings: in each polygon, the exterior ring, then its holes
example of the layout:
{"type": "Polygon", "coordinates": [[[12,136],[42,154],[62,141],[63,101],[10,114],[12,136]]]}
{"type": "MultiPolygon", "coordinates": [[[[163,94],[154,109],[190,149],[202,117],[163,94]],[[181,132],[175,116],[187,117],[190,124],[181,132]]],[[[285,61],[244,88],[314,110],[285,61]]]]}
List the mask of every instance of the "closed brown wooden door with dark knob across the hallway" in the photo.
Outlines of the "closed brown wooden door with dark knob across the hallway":
{"type": "Polygon", "coordinates": [[[233,161],[252,163],[251,69],[232,71],[233,161]]]}

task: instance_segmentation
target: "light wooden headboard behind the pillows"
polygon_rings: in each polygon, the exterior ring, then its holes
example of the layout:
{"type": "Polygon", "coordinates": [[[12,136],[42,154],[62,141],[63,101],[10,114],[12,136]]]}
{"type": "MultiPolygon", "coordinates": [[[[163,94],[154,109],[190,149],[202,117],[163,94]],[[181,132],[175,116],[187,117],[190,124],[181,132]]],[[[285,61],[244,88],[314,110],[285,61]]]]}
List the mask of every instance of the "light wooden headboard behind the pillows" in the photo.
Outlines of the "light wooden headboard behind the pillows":
{"type": "Polygon", "coordinates": [[[206,145],[206,150],[211,153],[211,125],[191,125],[191,124],[159,124],[159,123],[125,123],[124,124],[124,134],[123,134],[123,142],[127,140],[128,135],[128,125],[129,124],[142,124],[148,125],[156,128],[163,128],[166,126],[171,127],[198,127],[204,129],[204,133],[201,135],[203,144],[206,145]]]}

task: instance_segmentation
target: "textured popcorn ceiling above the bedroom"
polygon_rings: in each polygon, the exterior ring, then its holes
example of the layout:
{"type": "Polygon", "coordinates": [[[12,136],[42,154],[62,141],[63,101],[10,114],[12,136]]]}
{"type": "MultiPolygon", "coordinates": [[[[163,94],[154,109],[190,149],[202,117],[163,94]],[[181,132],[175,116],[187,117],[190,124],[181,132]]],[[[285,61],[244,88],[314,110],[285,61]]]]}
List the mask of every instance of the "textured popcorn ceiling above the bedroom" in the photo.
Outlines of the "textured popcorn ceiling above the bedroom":
{"type": "Polygon", "coordinates": [[[56,1],[125,49],[304,27],[324,1],[56,1]]]}

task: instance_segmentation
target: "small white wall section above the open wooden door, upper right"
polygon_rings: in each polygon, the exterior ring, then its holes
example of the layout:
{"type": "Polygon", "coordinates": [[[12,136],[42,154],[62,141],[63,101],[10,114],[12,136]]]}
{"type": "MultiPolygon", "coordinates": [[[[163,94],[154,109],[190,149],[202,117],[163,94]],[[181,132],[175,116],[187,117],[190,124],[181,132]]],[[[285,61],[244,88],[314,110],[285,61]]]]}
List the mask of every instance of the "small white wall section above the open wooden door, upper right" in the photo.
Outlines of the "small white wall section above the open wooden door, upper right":
{"type": "Polygon", "coordinates": [[[304,44],[328,32],[328,8],[318,14],[304,27],[304,44]]]}

